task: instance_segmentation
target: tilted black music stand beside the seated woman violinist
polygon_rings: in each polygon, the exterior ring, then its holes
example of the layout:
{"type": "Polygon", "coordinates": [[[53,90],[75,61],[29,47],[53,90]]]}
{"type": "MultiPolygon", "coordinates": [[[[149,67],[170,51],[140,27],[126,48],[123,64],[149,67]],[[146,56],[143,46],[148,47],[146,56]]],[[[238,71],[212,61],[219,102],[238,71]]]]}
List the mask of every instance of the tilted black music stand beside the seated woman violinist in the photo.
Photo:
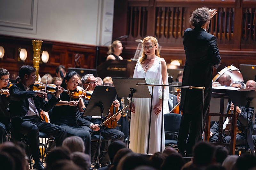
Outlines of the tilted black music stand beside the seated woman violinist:
{"type": "MultiPolygon", "coordinates": [[[[92,96],[88,102],[87,107],[84,110],[86,116],[101,116],[100,125],[102,124],[103,115],[106,116],[108,111],[116,97],[115,87],[110,86],[101,86],[98,85],[95,87],[92,96]]],[[[101,142],[101,130],[100,127],[100,138],[99,138],[99,147],[98,147],[98,156],[95,168],[100,168],[100,142],[101,142]]]]}

